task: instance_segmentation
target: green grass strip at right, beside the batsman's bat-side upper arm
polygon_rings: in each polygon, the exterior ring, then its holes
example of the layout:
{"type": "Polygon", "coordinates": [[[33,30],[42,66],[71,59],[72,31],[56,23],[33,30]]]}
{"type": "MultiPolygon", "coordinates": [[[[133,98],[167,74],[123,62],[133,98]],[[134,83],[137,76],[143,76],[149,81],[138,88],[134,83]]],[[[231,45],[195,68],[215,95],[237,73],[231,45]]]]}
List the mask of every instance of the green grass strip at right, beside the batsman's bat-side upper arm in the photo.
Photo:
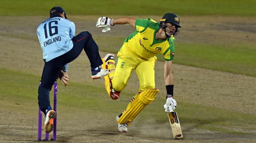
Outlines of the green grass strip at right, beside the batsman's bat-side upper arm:
{"type": "MultiPolygon", "coordinates": [[[[177,43],[173,63],[256,76],[256,50],[244,45],[177,43]]],[[[164,60],[162,55],[158,55],[164,60]]]]}

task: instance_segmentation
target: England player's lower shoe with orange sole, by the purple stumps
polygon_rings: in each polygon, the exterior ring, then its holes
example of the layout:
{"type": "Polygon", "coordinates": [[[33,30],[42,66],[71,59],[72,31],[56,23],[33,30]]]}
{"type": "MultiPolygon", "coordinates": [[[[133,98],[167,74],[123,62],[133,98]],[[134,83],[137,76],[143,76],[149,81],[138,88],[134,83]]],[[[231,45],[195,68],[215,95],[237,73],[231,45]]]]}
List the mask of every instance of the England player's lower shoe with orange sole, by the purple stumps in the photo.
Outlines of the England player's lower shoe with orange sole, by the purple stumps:
{"type": "Polygon", "coordinates": [[[53,119],[56,118],[56,112],[54,110],[50,110],[47,112],[44,122],[44,131],[46,133],[50,133],[53,130],[53,119]]]}

